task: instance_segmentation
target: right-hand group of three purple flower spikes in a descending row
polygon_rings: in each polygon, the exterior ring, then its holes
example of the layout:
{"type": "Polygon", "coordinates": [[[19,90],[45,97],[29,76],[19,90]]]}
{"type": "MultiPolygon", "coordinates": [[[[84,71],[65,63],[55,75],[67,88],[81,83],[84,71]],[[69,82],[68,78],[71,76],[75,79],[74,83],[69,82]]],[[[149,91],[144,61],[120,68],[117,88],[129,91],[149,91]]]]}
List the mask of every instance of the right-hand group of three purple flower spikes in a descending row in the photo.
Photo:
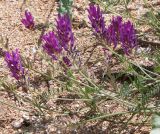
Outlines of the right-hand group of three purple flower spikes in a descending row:
{"type": "Polygon", "coordinates": [[[130,21],[123,22],[122,17],[117,16],[113,17],[110,25],[106,27],[99,6],[90,4],[88,13],[92,28],[96,33],[102,35],[108,44],[113,44],[114,48],[116,48],[118,44],[121,44],[126,55],[129,55],[131,50],[136,47],[136,30],[130,21]]]}

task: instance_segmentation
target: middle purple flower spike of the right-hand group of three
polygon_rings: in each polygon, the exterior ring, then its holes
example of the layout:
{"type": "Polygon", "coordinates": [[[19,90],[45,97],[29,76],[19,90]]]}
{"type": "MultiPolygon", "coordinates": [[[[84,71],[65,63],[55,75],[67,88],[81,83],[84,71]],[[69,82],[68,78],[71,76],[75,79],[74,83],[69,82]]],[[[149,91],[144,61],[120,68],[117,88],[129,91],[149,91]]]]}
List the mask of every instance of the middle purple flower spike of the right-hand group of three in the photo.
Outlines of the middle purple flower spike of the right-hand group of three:
{"type": "Polygon", "coordinates": [[[116,18],[113,17],[111,24],[107,28],[106,32],[106,40],[108,43],[113,43],[114,48],[117,47],[118,42],[120,40],[120,31],[122,28],[122,17],[117,16],[116,18]]]}

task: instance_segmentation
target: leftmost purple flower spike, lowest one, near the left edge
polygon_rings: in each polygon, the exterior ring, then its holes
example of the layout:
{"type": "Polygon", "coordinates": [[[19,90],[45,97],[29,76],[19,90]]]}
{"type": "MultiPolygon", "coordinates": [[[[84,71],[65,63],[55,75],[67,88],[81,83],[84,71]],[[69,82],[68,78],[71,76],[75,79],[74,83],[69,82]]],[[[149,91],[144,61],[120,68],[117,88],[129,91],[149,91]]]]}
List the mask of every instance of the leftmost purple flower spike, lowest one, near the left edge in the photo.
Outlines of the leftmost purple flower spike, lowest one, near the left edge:
{"type": "Polygon", "coordinates": [[[19,80],[24,77],[24,68],[21,64],[18,49],[16,49],[16,51],[12,51],[12,53],[6,52],[5,61],[7,62],[8,68],[15,79],[19,80]]]}

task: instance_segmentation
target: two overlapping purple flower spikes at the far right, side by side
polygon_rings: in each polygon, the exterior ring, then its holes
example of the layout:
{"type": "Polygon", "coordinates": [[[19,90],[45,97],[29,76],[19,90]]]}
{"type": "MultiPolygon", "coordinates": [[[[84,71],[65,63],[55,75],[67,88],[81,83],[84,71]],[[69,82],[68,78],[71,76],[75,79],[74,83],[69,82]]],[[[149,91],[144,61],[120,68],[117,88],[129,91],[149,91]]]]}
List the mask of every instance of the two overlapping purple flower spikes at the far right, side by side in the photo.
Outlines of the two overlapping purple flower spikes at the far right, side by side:
{"type": "Polygon", "coordinates": [[[129,55],[137,45],[136,30],[130,21],[122,22],[122,17],[117,16],[107,28],[106,40],[109,44],[113,44],[114,48],[121,44],[124,53],[129,55]]]}

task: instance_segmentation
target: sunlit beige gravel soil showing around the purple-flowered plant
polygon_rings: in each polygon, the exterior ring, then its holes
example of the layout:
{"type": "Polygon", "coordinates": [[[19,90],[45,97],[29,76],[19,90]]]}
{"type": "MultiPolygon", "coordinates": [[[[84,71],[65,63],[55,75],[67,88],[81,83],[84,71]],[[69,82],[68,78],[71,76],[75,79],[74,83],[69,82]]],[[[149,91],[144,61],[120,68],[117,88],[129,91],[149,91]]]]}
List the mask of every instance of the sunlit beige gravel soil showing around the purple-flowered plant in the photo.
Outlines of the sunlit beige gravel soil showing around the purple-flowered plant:
{"type": "MultiPolygon", "coordinates": [[[[130,8],[135,9],[133,11],[133,14],[137,15],[139,17],[138,13],[144,13],[146,12],[146,8],[139,8],[137,7],[137,3],[139,3],[138,0],[134,1],[135,3],[132,3],[130,5],[130,8]],[[142,11],[140,11],[140,9],[142,11]],[[138,12],[138,13],[137,13],[138,12]]],[[[151,2],[151,1],[149,1],[151,2]]],[[[153,3],[156,3],[158,1],[152,1],[153,3]]],[[[92,35],[92,32],[89,30],[89,24],[87,19],[87,12],[85,8],[87,7],[89,1],[88,0],[76,0],[74,2],[73,7],[73,16],[74,16],[74,32],[75,32],[75,38],[76,38],[76,45],[81,48],[85,48],[87,46],[90,46],[94,42],[94,38],[92,35]],[[83,24],[83,20],[86,22],[83,24]],[[77,28],[80,27],[80,28],[77,28]],[[87,38],[86,38],[87,37],[87,38]]],[[[139,6],[141,6],[139,4],[139,6]]],[[[157,6],[156,6],[157,7],[157,6]]],[[[55,0],[0,0],[0,47],[5,47],[8,50],[12,50],[15,48],[19,48],[20,52],[25,57],[32,57],[33,56],[33,50],[35,46],[38,44],[38,40],[40,36],[45,32],[43,30],[35,30],[30,31],[27,30],[21,23],[21,19],[24,15],[24,11],[28,9],[31,11],[33,16],[35,17],[36,25],[40,24],[49,24],[50,27],[47,30],[54,29],[54,21],[57,16],[57,3],[55,0]]],[[[107,16],[107,15],[106,15],[107,16]]],[[[110,16],[112,14],[108,15],[107,21],[109,20],[110,16]]],[[[146,28],[147,30],[148,28],[146,28]]],[[[46,29],[44,29],[46,30],[46,29]]],[[[145,28],[141,28],[142,31],[145,31],[145,28]]],[[[97,51],[96,51],[97,53],[97,51]]],[[[99,52],[100,53],[100,52],[99,52]]],[[[96,55],[96,54],[95,54],[96,55]]],[[[6,65],[3,62],[3,58],[0,57],[0,79],[7,79],[10,82],[13,80],[10,79],[10,76],[8,75],[9,72],[6,69],[6,65]]],[[[0,92],[0,101],[7,102],[9,105],[16,105],[13,101],[13,97],[9,98],[8,95],[4,92],[0,92]],[[12,99],[11,99],[12,98],[12,99]]],[[[53,102],[52,102],[53,103],[53,102]]],[[[74,102],[69,104],[68,106],[76,109],[78,106],[83,106],[83,104],[75,104],[74,102]]],[[[19,107],[19,106],[17,106],[19,107]]],[[[63,105],[61,106],[63,107],[63,105]]],[[[108,111],[109,108],[113,109],[113,111],[122,110],[122,107],[119,107],[117,104],[111,103],[110,105],[104,104],[102,107],[104,107],[104,111],[108,111]],[[107,107],[108,106],[108,107],[107,107]]],[[[10,106],[4,105],[0,103],[0,134],[14,134],[14,133],[25,133],[30,132],[31,134],[36,133],[104,133],[104,134],[111,134],[114,132],[109,131],[113,128],[120,127],[119,125],[114,125],[114,123],[109,123],[108,121],[105,121],[103,123],[92,123],[87,124],[86,127],[79,127],[71,130],[64,130],[65,125],[68,122],[78,122],[79,118],[77,117],[55,117],[52,119],[52,121],[48,121],[47,123],[44,123],[41,121],[41,119],[37,119],[38,123],[36,125],[30,126],[30,127],[20,127],[20,129],[16,129],[17,124],[15,122],[21,122],[22,116],[24,116],[24,112],[20,112],[18,109],[12,108],[10,106]],[[13,127],[14,126],[14,127],[13,127]],[[58,126],[61,126],[58,128],[58,126]]],[[[23,117],[24,118],[24,117],[23,117]]],[[[129,127],[128,133],[124,132],[126,134],[149,134],[150,127],[129,127]],[[129,132],[130,131],[130,132],[129,132]]],[[[127,130],[126,130],[127,131],[127,130]]],[[[118,134],[118,133],[117,133],[118,134]]]]}

